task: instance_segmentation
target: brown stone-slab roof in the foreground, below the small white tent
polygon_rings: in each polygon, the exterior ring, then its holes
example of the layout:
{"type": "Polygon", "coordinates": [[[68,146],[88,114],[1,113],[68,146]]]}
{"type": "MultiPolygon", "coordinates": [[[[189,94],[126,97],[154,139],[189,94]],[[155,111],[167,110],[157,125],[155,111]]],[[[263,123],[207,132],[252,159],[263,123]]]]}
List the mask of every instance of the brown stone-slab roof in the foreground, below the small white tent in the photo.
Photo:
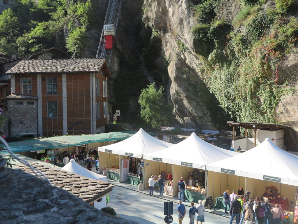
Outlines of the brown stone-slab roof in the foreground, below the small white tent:
{"type": "MultiPolygon", "coordinates": [[[[86,201],[88,204],[100,199],[105,194],[108,194],[113,188],[113,185],[107,182],[51,168],[44,164],[30,162],[30,165],[41,171],[49,179],[52,185],[72,193],[73,195],[86,201]]],[[[18,167],[26,173],[30,173],[35,176],[29,167],[25,165],[19,165],[18,167]]]]}

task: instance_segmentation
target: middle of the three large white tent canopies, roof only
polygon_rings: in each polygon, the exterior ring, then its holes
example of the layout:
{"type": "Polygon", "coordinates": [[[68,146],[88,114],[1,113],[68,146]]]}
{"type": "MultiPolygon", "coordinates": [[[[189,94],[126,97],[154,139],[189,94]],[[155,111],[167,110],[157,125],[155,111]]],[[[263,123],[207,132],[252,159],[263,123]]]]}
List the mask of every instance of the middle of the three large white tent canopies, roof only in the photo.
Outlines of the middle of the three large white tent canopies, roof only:
{"type": "Polygon", "coordinates": [[[144,159],[205,169],[205,165],[237,155],[205,142],[195,133],[169,148],[143,155],[144,159]]]}

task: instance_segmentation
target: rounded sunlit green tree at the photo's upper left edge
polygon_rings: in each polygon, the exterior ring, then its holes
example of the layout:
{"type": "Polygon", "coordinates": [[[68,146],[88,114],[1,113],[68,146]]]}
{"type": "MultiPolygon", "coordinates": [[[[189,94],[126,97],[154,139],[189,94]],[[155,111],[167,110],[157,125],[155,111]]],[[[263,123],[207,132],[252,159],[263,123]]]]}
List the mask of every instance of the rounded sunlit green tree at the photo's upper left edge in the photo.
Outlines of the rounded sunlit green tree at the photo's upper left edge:
{"type": "Polygon", "coordinates": [[[0,39],[5,37],[8,42],[14,42],[19,34],[18,18],[14,16],[13,10],[6,9],[0,15],[0,39]]]}

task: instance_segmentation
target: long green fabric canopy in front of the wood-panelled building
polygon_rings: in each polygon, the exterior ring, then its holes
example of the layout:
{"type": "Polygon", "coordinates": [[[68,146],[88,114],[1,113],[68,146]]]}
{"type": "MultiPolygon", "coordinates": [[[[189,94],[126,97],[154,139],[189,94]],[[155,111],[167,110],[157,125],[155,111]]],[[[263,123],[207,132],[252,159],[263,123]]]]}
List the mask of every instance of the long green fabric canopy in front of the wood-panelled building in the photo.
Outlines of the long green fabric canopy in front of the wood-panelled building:
{"type": "MultiPolygon", "coordinates": [[[[68,147],[74,145],[84,145],[93,142],[116,141],[120,139],[127,139],[132,135],[133,134],[121,133],[116,131],[95,135],[65,135],[44,139],[27,140],[23,142],[10,142],[8,143],[8,145],[11,151],[17,153],[50,148],[68,147]]],[[[5,148],[4,145],[1,146],[5,148]]]]}

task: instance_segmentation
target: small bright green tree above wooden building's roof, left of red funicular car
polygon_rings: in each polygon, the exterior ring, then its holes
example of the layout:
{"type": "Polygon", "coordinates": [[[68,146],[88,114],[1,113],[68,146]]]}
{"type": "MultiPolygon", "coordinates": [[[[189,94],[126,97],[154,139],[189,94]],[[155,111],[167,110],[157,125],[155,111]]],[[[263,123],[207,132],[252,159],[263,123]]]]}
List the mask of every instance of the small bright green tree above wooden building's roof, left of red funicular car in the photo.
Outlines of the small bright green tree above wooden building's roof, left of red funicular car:
{"type": "Polygon", "coordinates": [[[77,27],[69,33],[66,39],[66,48],[72,53],[72,58],[79,57],[86,45],[86,29],[77,27]]]}

